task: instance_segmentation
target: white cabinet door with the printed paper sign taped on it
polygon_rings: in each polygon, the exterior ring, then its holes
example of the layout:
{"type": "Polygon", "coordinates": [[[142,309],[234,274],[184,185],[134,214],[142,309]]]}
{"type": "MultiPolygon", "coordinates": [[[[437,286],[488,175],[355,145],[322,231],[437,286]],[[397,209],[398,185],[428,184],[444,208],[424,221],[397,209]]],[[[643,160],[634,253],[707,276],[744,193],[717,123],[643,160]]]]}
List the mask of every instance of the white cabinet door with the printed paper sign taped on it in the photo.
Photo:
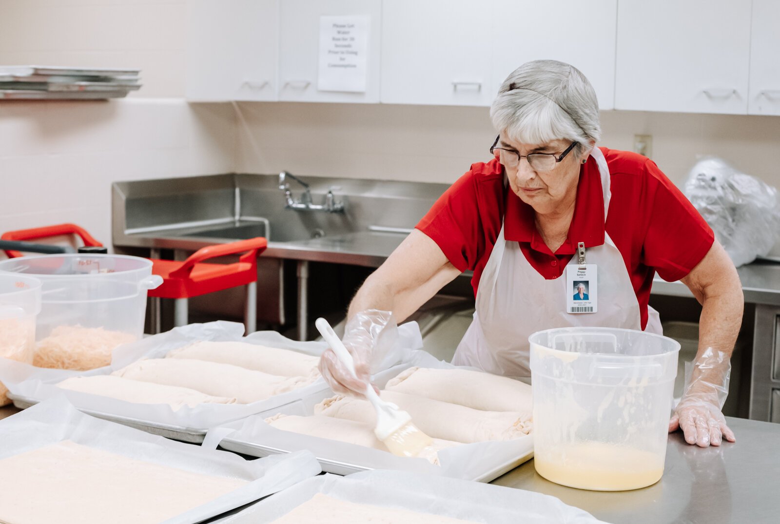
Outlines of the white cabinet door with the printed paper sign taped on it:
{"type": "Polygon", "coordinates": [[[282,0],[279,7],[279,100],[379,101],[381,0],[282,0]],[[365,92],[317,90],[320,17],[337,15],[371,17],[365,92]]]}

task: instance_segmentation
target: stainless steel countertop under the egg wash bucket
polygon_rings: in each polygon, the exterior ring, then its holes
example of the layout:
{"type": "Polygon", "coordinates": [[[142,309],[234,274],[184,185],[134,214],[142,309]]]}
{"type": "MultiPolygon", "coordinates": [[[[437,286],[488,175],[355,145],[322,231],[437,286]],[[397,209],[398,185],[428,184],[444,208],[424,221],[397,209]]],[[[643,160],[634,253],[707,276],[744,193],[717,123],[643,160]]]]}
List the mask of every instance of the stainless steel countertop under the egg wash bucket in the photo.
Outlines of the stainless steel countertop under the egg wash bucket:
{"type": "Polygon", "coordinates": [[[732,419],[737,441],[698,448],[669,436],[664,476],[641,490],[576,490],[544,480],[534,461],[492,483],[560,498],[606,522],[780,522],[780,425],[732,419]]]}

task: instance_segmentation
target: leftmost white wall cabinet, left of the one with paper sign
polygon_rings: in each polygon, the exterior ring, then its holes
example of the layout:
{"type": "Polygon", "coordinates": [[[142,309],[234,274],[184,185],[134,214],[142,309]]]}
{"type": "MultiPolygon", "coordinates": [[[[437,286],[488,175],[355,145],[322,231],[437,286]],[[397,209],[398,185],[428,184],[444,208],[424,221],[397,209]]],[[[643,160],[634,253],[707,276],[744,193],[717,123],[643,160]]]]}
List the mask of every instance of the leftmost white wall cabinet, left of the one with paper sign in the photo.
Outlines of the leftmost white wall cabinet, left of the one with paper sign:
{"type": "Polygon", "coordinates": [[[186,98],[277,99],[278,0],[191,0],[186,98]]]}

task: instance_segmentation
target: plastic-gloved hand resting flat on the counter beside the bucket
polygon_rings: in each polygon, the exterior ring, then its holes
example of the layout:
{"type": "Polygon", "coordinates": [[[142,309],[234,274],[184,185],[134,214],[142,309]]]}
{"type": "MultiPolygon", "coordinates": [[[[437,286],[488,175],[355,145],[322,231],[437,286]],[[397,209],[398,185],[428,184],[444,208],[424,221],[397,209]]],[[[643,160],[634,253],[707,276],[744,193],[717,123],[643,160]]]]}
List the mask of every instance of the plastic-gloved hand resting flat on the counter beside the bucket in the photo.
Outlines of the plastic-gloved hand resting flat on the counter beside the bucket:
{"type": "Polygon", "coordinates": [[[721,412],[729,395],[730,374],[729,356],[722,351],[707,348],[694,360],[690,374],[686,369],[686,387],[669,420],[669,433],[682,429],[688,444],[702,448],[721,445],[723,437],[734,442],[734,432],[721,412]]]}

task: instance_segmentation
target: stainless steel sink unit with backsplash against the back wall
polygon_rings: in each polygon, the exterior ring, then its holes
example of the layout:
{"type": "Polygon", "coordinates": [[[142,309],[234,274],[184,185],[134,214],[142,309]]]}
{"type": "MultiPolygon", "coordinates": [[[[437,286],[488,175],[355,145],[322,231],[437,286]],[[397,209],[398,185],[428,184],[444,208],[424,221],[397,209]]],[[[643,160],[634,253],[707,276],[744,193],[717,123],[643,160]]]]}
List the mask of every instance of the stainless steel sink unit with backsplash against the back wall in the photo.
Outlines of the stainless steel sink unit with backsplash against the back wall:
{"type": "MultiPolygon", "coordinates": [[[[448,185],[309,177],[311,199],[343,202],[339,213],[286,207],[278,175],[228,173],[190,178],[114,182],[112,234],[119,252],[174,257],[216,243],[262,236],[268,249],[258,260],[258,320],[285,324],[285,273],[296,272],[298,325],[306,338],[310,262],[378,267],[431,208],[448,185]],[[340,189],[332,189],[339,186],[340,189]],[[144,253],[145,254],[145,253],[144,253]],[[285,270],[286,260],[296,260],[285,270]]],[[[334,270],[335,271],[335,270],[334,270]]],[[[240,316],[242,290],[193,299],[193,310],[240,316]],[[233,295],[229,295],[229,293],[233,295]],[[236,307],[238,307],[236,306],[236,307]],[[224,307],[225,311],[217,310],[224,307]]],[[[288,297],[289,300],[294,300],[288,297]]]]}

